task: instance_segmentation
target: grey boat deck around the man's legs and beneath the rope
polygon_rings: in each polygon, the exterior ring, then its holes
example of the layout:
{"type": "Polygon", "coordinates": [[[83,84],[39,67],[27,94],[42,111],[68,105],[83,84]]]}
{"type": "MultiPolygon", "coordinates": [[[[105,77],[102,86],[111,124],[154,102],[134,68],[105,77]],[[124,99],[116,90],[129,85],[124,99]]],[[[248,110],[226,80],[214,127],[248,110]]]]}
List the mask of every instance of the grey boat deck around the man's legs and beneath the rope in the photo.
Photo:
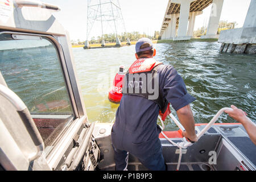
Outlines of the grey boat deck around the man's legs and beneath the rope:
{"type": "MultiPolygon", "coordinates": [[[[108,126],[108,125],[104,125],[108,126]]],[[[98,127],[98,128],[97,128],[98,127]]],[[[104,137],[97,135],[96,126],[94,136],[101,150],[101,161],[98,164],[99,170],[113,171],[114,152],[111,145],[110,134],[104,137]]],[[[111,127],[111,125],[109,126],[111,127]]],[[[197,125],[197,133],[204,128],[197,125]]],[[[163,147],[164,160],[168,166],[168,171],[175,171],[179,159],[179,148],[173,146],[165,138],[160,138],[163,147]]],[[[173,138],[174,142],[181,142],[181,138],[173,138]]],[[[180,171],[235,171],[235,170],[255,170],[256,146],[251,142],[245,129],[240,124],[214,125],[205,133],[198,142],[188,147],[181,158],[180,171]],[[216,163],[209,164],[210,151],[216,152],[216,163]]],[[[137,158],[129,154],[129,171],[147,171],[137,158]]]]}

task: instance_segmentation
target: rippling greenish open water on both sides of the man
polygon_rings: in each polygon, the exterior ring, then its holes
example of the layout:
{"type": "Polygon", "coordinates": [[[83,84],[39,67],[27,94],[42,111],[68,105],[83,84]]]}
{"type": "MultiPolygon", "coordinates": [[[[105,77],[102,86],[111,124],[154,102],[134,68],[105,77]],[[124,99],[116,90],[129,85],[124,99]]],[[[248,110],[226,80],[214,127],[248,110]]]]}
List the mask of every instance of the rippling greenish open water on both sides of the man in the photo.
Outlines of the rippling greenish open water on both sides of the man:
{"type": "MultiPolygon", "coordinates": [[[[256,55],[220,53],[215,42],[156,44],[156,59],[174,66],[188,92],[196,97],[192,111],[197,123],[207,123],[222,107],[236,105],[254,120],[256,117],[256,55]]],[[[73,48],[86,111],[91,122],[111,122],[117,104],[108,100],[119,65],[135,61],[135,46],[122,48],[73,48]]],[[[171,108],[172,109],[172,108],[171,108]]],[[[172,109],[176,115],[174,109],[172,109]]],[[[218,122],[234,122],[222,114],[218,122]]],[[[176,129],[167,119],[166,130],[176,129]]]]}

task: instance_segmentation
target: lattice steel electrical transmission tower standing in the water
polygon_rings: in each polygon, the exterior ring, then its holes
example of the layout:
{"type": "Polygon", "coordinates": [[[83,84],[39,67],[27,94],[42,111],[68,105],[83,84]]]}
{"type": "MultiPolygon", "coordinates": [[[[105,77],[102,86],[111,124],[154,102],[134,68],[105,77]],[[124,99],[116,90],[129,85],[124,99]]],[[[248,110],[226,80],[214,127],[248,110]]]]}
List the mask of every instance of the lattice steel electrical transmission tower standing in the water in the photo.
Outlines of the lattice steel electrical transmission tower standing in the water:
{"type": "MultiPolygon", "coordinates": [[[[127,38],[119,0],[88,0],[87,32],[84,48],[89,48],[89,38],[90,36],[94,38],[95,35],[101,35],[101,46],[105,47],[104,35],[106,34],[115,36],[116,46],[121,46],[118,34],[127,38]]],[[[130,45],[129,38],[127,38],[127,44],[130,45]]]]}

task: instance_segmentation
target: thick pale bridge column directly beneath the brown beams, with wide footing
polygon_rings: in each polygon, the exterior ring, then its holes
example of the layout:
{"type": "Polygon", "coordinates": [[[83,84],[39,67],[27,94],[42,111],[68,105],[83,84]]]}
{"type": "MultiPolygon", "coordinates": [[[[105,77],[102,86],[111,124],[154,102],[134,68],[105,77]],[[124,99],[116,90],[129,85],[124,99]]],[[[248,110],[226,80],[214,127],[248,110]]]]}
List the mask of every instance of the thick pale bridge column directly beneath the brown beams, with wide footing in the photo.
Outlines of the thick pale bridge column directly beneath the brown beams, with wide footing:
{"type": "Polygon", "coordinates": [[[195,0],[180,0],[177,3],[180,3],[180,19],[179,19],[179,28],[177,32],[177,37],[174,40],[190,40],[190,36],[187,36],[188,28],[188,16],[190,3],[195,0]]]}

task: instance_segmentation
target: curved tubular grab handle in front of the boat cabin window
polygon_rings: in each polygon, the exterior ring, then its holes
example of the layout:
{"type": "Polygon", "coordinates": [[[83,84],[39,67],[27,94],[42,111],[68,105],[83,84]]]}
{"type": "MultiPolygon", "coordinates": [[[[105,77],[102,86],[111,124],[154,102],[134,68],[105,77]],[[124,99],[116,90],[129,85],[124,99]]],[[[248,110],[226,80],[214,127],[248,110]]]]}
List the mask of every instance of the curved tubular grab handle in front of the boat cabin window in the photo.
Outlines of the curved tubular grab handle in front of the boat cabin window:
{"type": "Polygon", "coordinates": [[[27,106],[19,98],[19,96],[17,96],[11,89],[3,86],[2,84],[0,84],[0,94],[3,97],[7,98],[7,100],[9,100],[11,104],[14,105],[16,111],[18,112],[20,118],[23,121],[24,126],[26,126],[28,134],[30,134],[31,139],[36,146],[36,153],[29,156],[28,160],[32,161],[39,158],[39,156],[44,151],[44,142],[35,125],[35,122],[30,115],[30,112],[27,109],[27,106]]]}

